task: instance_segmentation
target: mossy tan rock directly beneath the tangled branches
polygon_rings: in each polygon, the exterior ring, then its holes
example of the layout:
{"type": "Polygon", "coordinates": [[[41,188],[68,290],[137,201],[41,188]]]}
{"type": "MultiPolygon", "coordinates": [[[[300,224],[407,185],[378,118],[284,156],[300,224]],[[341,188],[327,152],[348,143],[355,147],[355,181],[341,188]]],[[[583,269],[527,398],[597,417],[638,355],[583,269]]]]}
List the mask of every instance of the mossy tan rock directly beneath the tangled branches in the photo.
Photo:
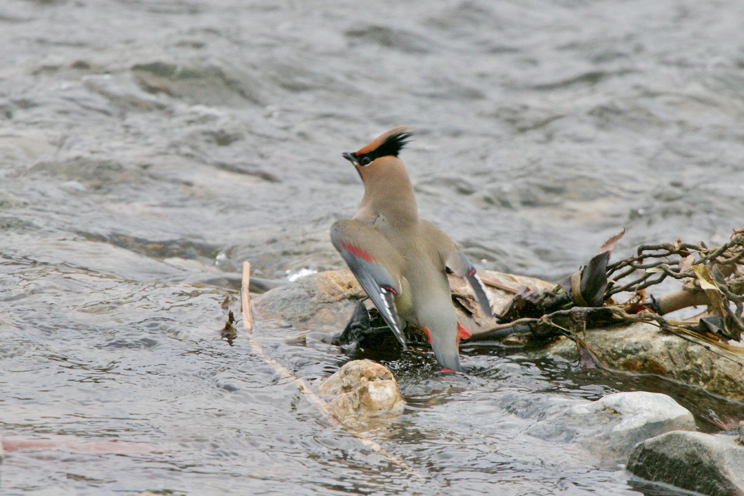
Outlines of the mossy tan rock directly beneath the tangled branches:
{"type": "MultiPolygon", "coordinates": [[[[586,343],[613,369],[657,374],[744,400],[744,355],[716,354],[647,323],[592,329],[586,333],[586,343]]],[[[547,354],[578,358],[576,346],[566,338],[548,348],[547,354]]]]}

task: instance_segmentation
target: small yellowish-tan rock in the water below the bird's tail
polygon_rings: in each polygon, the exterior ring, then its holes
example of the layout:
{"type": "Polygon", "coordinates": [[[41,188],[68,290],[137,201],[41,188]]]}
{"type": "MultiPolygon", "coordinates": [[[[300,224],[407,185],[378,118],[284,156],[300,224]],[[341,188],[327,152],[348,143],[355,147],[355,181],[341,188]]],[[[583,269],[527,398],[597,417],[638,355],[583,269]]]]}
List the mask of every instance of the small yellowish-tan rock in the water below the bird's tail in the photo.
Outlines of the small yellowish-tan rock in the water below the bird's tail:
{"type": "Polygon", "coordinates": [[[348,362],[323,381],[318,392],[341,422],[403,410],[403,396],[393,374],[371,360],[348,362]]]}

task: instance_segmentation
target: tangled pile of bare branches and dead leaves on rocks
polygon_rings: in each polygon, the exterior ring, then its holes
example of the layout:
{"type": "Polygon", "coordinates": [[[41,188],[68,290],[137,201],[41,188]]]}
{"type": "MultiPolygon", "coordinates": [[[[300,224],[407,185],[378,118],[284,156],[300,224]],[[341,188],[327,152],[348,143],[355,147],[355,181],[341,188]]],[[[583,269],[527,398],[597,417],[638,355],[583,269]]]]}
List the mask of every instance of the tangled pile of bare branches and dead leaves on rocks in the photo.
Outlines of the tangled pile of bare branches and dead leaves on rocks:
{"type": "Polygon", "coordinates": [[[678,239],[674,243],[642,245],[635,255],[606,264],[620,236],[622,233],[609,239],[586,268],[552,289],[516,294],[503,312],[501,323],[474,332],[471,340],[498,339],[515,333],[530,338],[565,335],[577,342],[581,351],[576,329],[620,322],[653,323],[687,339],[689,333],[710,335],[711,332],[724,339],[741,339],[744,228],[734,231],[731,239],[721,246],[708,248],[704,242],[694,245],[678,239]],[[658,299],[646,299],[645,289],[667,277],[684,281],[684,286],[658,299]],[[613,297],[622,292],[631,293],[631,297],[617,303],[613,297]],[[595,303],[587,305],[587,301],[595,303]],[[662,317],[696,305],[708,306],[708,315],[684,323],[672,323],[662,317]]]}

